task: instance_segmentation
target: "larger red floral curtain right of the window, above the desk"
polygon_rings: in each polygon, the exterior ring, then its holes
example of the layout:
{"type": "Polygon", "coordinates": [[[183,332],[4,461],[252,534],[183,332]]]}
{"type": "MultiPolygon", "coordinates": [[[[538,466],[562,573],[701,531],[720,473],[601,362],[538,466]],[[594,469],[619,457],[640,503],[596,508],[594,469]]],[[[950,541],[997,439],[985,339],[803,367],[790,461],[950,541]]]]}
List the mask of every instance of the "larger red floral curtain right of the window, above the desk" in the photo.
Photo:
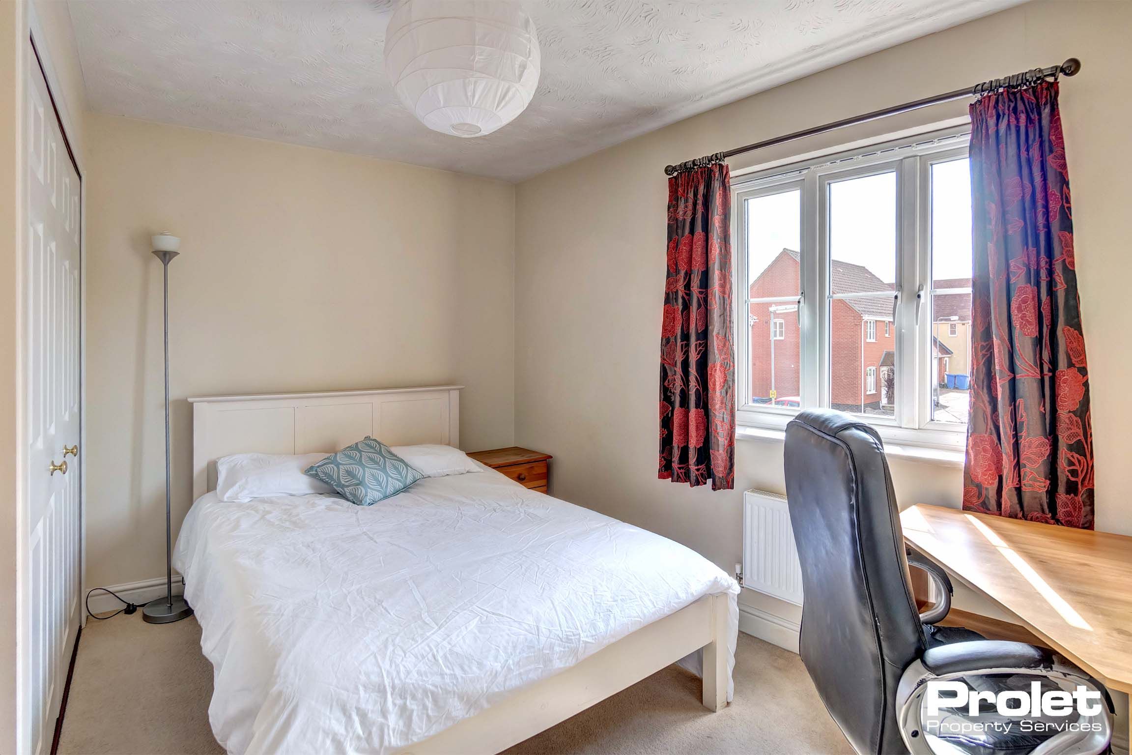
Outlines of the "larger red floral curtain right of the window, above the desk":
{"type": "Polygon", "coordinates": [[[971,105],[963,508],[1092,529],[1092,419],[1057,83],[971,105]]]}

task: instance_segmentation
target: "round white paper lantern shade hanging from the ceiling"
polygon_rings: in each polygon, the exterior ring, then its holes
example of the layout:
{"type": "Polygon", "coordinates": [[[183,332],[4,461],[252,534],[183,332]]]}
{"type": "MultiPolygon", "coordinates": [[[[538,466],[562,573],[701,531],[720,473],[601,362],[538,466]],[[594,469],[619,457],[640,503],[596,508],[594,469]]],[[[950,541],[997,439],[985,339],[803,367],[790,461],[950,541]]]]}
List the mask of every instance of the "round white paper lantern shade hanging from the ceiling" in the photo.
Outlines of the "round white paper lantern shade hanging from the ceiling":
{"type": "Polygon", "coordinates": [[[539,85],[539,38],[516,0],[405,0],[385,34],[401,102],[434,131],[486,136],[539,85]]]}

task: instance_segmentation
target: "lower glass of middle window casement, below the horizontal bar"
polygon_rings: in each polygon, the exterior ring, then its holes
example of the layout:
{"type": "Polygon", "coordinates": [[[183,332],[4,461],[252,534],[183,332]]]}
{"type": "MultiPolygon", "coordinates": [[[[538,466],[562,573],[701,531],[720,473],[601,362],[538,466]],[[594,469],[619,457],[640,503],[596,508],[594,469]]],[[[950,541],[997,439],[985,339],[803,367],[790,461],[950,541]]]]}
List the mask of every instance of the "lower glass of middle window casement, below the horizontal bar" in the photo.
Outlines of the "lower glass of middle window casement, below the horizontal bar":
{"type": "Polygon", "coordinates": [[[843,412],[893,417],[897,403],[892,297],[830,301],[830,404],[843,412]]]}

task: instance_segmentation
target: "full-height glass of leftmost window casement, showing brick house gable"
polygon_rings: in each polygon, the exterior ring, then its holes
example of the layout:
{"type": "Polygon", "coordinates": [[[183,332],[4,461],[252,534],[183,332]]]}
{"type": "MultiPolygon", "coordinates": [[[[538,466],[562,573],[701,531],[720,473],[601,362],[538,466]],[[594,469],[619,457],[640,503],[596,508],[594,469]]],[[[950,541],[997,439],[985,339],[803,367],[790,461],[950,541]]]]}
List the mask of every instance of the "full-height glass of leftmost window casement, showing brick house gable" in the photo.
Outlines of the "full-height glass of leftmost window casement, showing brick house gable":
{"type": "Polygon", "coordinates": [[[754,404],[799,406],[798,302],[766,299],[801,293],[801,192],[790,189],[745,201],[751,299],[748,397],[754,404]]]}

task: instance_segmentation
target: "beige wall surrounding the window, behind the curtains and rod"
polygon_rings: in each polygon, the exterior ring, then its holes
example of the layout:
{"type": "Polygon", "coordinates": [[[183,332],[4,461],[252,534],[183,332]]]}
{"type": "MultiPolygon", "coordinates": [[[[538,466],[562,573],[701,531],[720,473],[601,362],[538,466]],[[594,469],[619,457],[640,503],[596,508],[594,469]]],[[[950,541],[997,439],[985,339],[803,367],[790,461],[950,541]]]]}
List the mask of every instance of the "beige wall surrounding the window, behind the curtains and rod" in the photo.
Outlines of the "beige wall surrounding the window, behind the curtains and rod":
{"type": "MultiPolygon", "coordinates": [[[[1097,410],[1097,526],[1132,533],[1124,300],[1132,197],[1126,2],[1035,2],[924,37],[633,139],[520,185],[515,440],[555,455],[554,492],[648,527],[730,572],[745,488],[783,490],[781,443],[739,440],[736,490],[655,479],[668,163],[1080,57],[1063,88],[1078,276],[1097,410]]],[[[732,161],[732,170],[966,114],[966,103],[732,161]]],[[[902,504],[957,505],[961,470],[892,462],[902,504]]],[[[749,595],[747,598],[749,600],[749,595]]]]}

